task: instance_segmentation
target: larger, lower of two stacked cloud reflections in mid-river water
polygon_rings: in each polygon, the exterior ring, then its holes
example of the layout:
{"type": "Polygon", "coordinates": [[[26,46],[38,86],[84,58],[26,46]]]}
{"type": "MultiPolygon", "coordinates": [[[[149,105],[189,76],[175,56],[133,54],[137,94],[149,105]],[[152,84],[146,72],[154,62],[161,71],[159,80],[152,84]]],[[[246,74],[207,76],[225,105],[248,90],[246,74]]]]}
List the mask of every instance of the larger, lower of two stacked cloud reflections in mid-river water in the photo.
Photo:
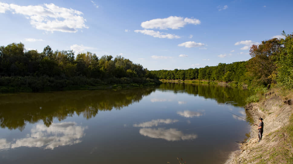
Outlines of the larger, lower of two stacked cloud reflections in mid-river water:
{"type": "Polygon", "coordinates": [[[161,138],[167,141],[193,140],[197,138],[196,134],[183,134],[182,131],[179,131],[175,128],[141,128],[139,133],[143,136],[161,138]]]}

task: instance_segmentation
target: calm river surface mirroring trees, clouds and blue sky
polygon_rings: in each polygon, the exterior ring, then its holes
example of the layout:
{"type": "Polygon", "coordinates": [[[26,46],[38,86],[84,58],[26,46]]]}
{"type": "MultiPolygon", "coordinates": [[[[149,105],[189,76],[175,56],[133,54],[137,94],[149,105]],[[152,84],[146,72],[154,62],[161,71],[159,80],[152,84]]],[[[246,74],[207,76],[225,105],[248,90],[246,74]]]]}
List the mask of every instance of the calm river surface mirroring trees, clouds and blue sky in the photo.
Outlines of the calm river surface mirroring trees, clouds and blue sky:
{"type": "Polygon", "coordinates": [[[223,163],[247,138],[247,90],[157,88],[0,95],[0,163],[223,163]]]}

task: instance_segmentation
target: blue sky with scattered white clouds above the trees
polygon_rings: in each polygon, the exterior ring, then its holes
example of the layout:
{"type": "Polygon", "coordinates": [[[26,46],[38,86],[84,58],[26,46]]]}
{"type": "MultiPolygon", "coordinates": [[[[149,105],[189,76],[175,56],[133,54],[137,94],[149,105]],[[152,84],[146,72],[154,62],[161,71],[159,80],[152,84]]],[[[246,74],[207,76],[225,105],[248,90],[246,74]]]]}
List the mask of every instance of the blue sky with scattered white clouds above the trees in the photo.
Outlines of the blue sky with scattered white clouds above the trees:
{"type": "Polygon", "coordinates": [[[0,46],[122,55],[149,70],[249,60],[293,32],[293,1],[0,0],[0,46]]]}

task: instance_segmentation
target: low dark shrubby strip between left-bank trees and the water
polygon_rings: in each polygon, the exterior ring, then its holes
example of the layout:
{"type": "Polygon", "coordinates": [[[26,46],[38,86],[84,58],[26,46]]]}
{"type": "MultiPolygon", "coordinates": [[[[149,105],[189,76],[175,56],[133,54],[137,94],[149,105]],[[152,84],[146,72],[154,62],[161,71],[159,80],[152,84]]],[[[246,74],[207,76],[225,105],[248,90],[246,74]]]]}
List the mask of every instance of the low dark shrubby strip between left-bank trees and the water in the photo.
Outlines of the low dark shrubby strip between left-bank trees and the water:
{"type": "Polygon", "coordinates": [[[104,80],[87,77],[0,77],[0,93],[44,92],[61,90],[122,89],[150,87],[160,84],[149,78],[107,78],[104,80]]]}

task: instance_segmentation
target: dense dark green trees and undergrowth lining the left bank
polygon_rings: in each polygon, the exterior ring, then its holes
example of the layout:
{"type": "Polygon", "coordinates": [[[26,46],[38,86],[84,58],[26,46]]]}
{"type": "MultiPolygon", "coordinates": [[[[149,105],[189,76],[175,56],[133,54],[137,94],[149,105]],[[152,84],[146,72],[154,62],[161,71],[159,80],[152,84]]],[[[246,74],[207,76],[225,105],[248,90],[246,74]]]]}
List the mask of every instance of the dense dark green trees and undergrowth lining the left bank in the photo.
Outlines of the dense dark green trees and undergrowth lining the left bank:
{"type": "Polygon", "coordinates": [[[72,86],[159,83],[146,68],[121,56],[72,50],[27,51],[22,43],[0,47],[0,92],[60,90],[72,86]],[[1,87],[2,86],[2,87],[1,87]],[[15,88],[18,88],[15,90],[15,88]]]}

